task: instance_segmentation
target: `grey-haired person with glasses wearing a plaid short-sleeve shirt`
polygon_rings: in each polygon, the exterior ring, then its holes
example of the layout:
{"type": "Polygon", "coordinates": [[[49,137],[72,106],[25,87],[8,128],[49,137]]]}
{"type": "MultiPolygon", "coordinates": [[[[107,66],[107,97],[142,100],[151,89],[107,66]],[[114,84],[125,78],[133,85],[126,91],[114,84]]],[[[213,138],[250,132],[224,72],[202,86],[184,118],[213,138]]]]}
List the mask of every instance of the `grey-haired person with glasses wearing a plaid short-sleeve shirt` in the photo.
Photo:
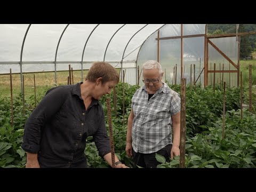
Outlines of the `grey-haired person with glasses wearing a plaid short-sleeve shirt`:
{"type": "Polygon", "coordinates": [[[163,70],[157,61],[142,66],[143,83],[132,98],[128,118],[126,154],[135,165],[151,168],[180,155],[180,95],[162,82],[163,70]]]}

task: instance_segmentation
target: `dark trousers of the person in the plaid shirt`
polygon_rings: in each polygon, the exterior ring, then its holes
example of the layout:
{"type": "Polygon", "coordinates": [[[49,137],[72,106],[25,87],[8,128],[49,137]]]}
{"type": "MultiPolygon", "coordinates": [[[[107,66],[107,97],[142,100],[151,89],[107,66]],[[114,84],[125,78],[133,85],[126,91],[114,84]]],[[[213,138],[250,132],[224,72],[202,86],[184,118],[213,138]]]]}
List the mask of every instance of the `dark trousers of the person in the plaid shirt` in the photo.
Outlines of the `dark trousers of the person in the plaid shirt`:
{"type": "MultiPolygon", "coordinates": [[[[136,153],[132,149],[133,161],[135,165],[139,165],[144,168],[156,168],[157,165],[161,164],[156,160],[156,153],[165,157],[167,162],[170,162],[172,145],[169,144],[164,148],[151,154],[136,153]]],[[[138,168],[138,166],[136,166],[138,168]]]]}

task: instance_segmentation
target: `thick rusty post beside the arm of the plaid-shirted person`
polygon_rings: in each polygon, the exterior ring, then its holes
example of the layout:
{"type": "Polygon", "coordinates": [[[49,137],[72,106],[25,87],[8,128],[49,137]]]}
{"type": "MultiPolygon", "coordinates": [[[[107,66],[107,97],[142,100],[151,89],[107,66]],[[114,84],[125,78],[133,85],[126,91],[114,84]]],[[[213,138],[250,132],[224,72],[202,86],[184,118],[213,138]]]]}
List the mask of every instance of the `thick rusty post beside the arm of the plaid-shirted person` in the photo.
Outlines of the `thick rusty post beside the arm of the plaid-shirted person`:
{"type": "Polygon", "coordinates": [[[180,168],[185,167],[186,145],[186,78],[181,78],[181,111],[180,111],[180,168]]]}

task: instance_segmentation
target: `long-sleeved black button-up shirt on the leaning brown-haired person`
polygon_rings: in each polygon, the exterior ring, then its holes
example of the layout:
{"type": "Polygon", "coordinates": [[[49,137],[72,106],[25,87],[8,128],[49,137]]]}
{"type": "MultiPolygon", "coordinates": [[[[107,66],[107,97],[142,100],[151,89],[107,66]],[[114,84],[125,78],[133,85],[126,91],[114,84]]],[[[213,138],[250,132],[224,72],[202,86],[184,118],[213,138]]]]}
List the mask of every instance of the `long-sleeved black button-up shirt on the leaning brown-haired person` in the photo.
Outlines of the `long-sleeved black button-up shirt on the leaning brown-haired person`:
{"type": "Polygon", "coordinates": [[[53,87],[27,119],[22,149],[37,153],[41,167],[87,167],[91,135],[101,157],[111,151],[103,108],[92,99],[86,110],[80,85],[53,87]]]}

